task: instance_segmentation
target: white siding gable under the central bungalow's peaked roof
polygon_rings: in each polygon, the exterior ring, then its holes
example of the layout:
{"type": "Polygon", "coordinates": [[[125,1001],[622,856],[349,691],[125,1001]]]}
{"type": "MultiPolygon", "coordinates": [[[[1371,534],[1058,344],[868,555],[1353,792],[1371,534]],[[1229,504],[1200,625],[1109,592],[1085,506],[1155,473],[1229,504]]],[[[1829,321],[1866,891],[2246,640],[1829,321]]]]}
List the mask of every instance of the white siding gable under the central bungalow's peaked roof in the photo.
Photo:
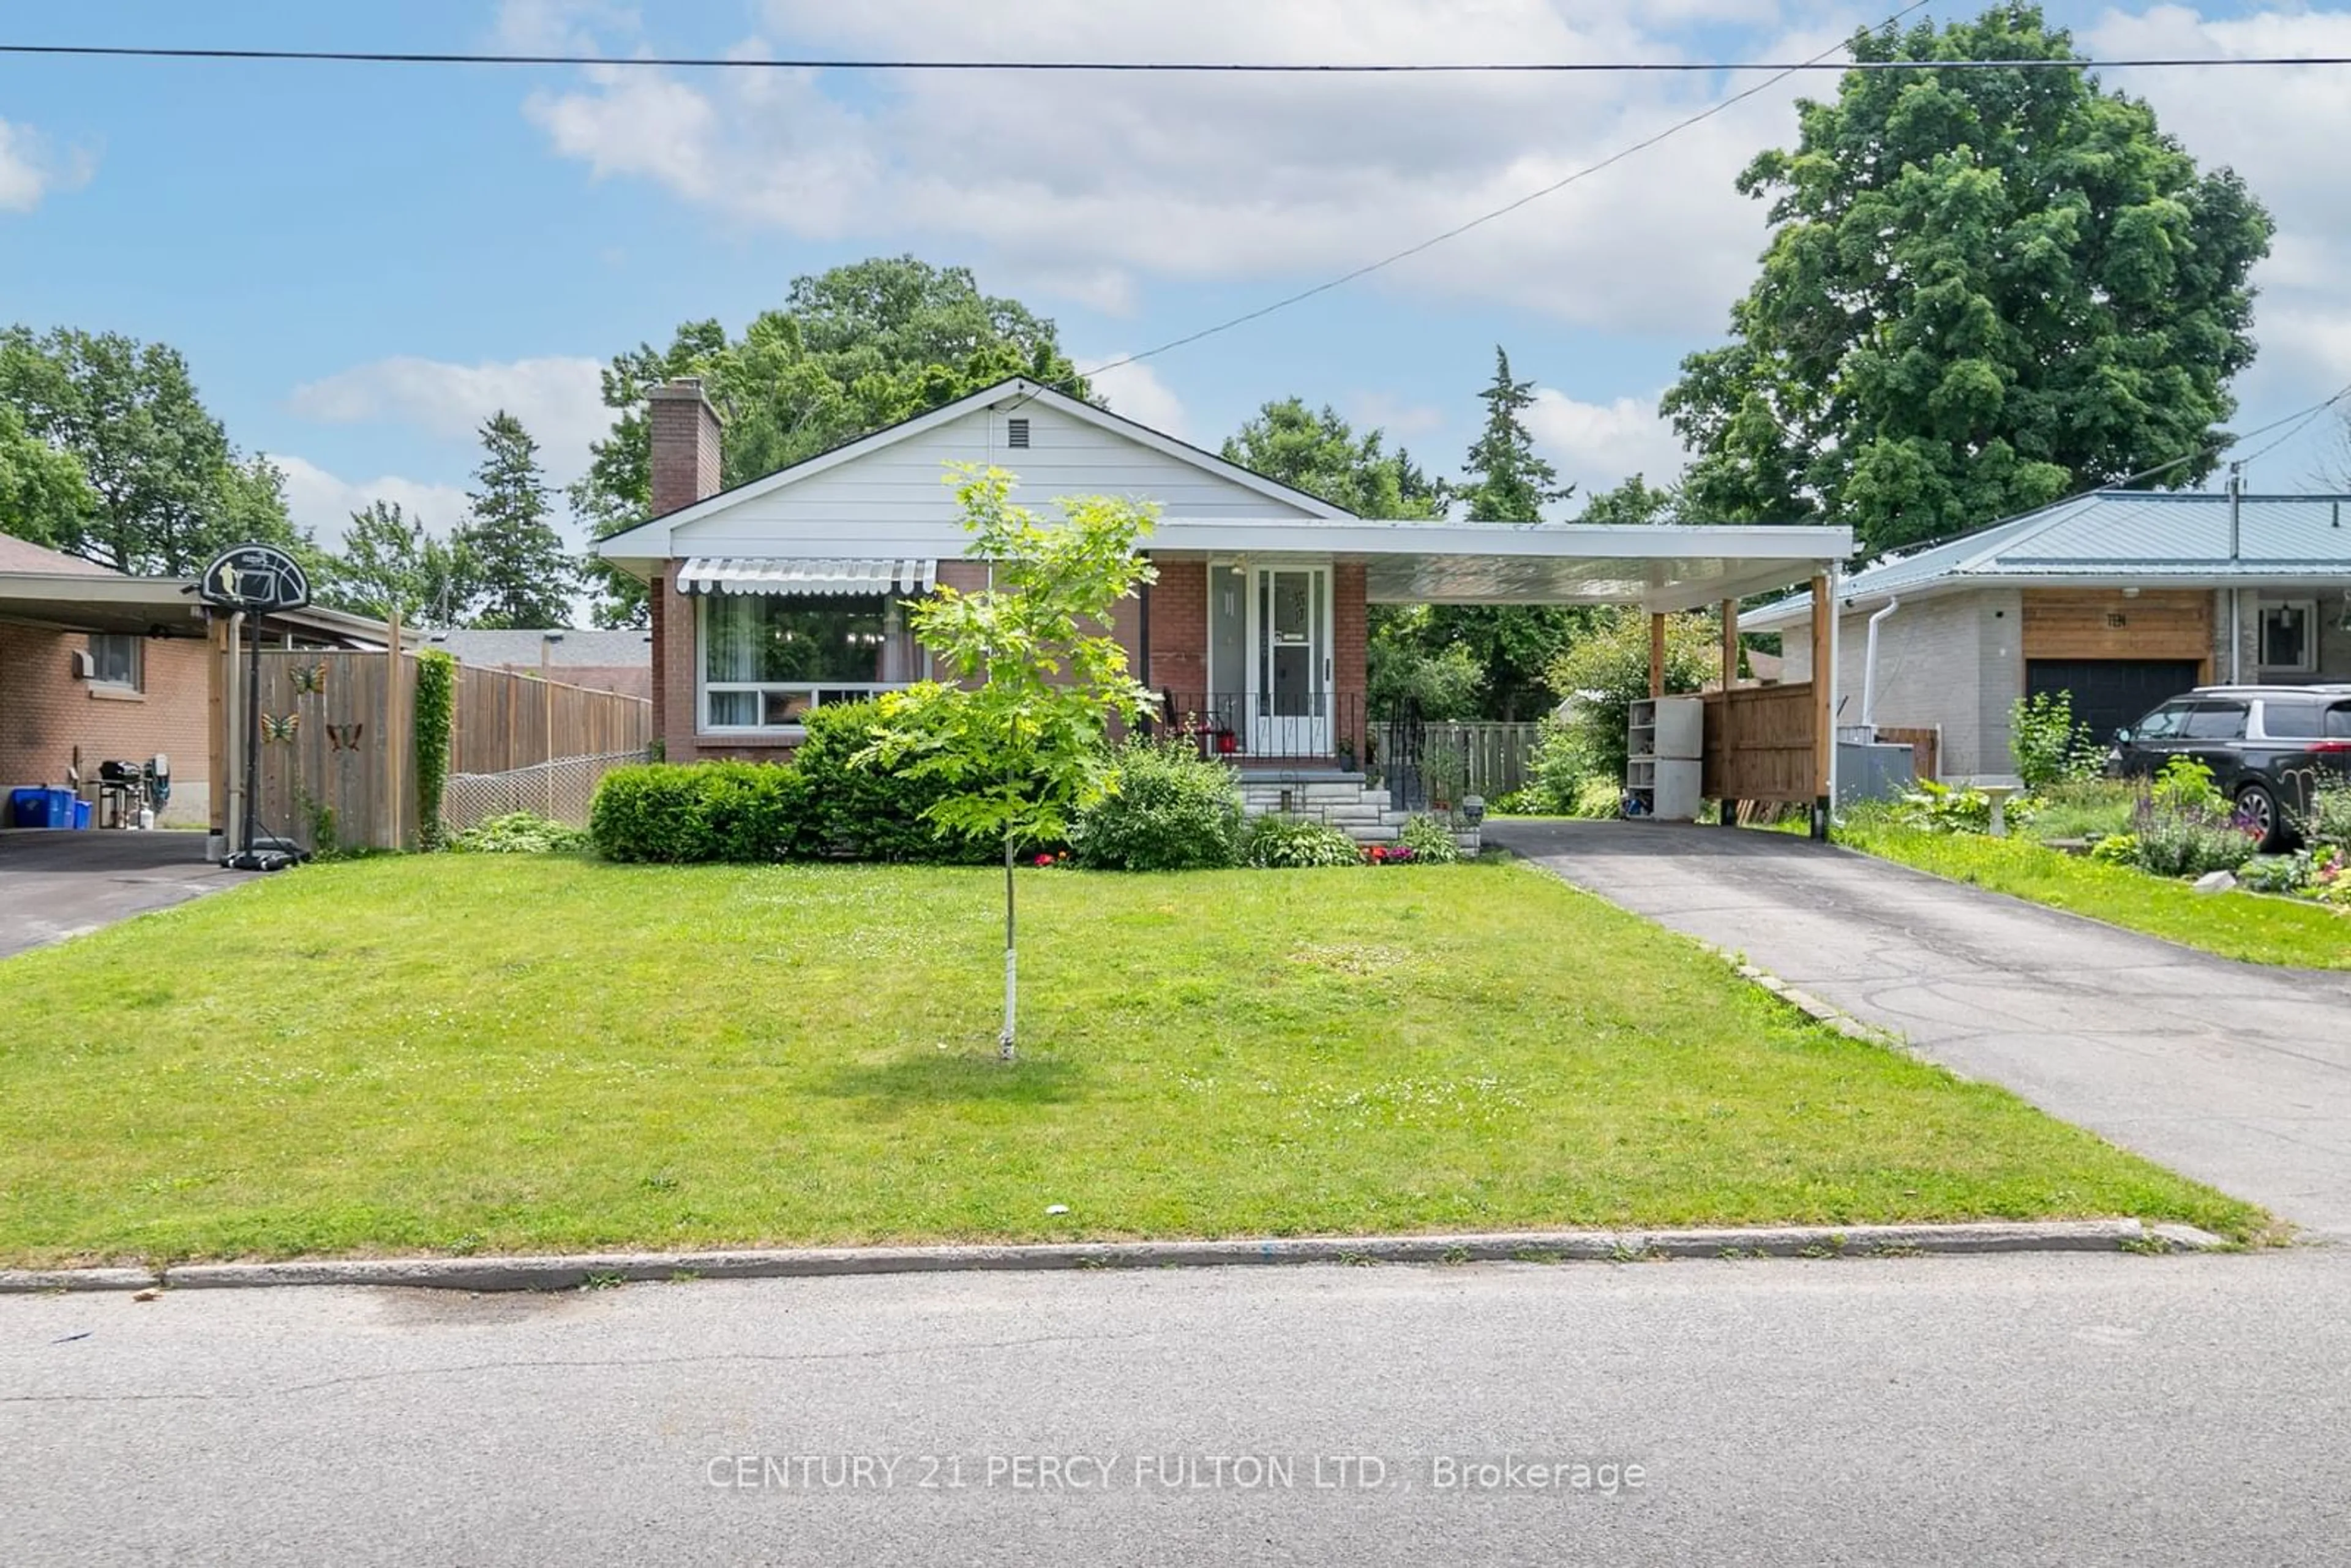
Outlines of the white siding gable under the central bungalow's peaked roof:
{"type": "Polygon", "coordinates": [[[1166,517],[1314,515],[1041,400],[1006,397],[736,503],[719,498],[712,512],[672,531],[670,550],[773,555],[783,545],[825,545],[825,555],[957,555],[966,536],[950,463],[994,463],[1018,475],[1016,501],[1046,515],[1056,496],[1096,494],[1157,501],[1166,517]],[[1027,449],[1006,444],[1011,418],[1027,421],[1027,449]]]}

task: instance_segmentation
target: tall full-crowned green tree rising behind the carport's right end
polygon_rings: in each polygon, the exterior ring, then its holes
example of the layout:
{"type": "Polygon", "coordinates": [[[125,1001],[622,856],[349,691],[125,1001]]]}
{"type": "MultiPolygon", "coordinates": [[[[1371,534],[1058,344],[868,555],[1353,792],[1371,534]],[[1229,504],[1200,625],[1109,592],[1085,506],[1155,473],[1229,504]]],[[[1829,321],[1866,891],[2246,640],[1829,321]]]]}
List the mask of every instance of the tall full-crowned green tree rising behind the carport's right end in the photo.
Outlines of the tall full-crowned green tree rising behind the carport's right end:
{"type": "MultiPolygon", "coordinates": [[[[1853,40],[1860,61],[2071,59],[2036,5],[1853,40]]],[[[1876,550],[2179,461],[2212,470],[2271,223],[2083,71],[1853,71],[1740,190],[1773,237],[1665,409],[1709,520],[1876,550]]]]}

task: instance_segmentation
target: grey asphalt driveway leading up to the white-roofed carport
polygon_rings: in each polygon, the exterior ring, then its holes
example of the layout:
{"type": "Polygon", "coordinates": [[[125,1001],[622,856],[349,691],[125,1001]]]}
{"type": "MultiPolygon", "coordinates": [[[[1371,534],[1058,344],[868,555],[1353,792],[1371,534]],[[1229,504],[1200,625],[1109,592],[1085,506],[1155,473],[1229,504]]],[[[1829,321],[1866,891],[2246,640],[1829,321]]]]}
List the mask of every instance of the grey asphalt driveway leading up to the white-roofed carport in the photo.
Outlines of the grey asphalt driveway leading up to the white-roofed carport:
{"type": "Polygon", "coordinates": [[[1782,832],[1488,820],[1486,842],[2050,1114],[2351,1237],[2351,976],[2208,957],[1782,832]]]}

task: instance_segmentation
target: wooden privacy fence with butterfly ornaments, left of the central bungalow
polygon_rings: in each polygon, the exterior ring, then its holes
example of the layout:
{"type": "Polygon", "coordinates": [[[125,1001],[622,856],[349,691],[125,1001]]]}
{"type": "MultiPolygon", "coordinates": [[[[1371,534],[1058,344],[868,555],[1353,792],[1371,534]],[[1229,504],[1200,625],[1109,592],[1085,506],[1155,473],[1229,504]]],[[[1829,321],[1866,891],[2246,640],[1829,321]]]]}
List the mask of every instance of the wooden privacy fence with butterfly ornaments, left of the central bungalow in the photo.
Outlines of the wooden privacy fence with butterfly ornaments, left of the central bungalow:
{"type": "MultiPolygon", "coordinates": [[[[233,705],[228,764],[242,788],[242,658],[233,705]]],[[[414,654],[263,649],[259,832],[303,849],[414,849],[414,654]]],[[[585,825],[595,780],[642,759],[651,741],[644,698],[458,665],[442,816],[470,827],[531,809],[585,825]]],[[[230,799],[230,820],[240,811],[230,799]]]]}

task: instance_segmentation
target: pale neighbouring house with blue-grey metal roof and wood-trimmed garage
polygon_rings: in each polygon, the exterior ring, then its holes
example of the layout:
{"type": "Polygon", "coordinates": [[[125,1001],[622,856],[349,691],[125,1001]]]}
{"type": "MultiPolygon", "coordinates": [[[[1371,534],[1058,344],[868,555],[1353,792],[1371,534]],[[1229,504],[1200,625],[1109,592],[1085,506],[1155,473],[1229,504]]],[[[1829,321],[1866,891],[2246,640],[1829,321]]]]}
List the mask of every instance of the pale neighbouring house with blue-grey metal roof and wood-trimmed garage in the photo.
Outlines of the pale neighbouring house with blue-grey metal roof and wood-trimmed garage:
{"type": "MultiPolygon", "coordinates": [[[[2029,693],[2069,693],[2104,741],[2193,686],[2351,682],[2346,505],[2102,491],[1883,559],[1838,585],[1838,724],[1940,729],[1944,776],[2005,776],[2008,712],[2029,693]]],[[[1801,632],[1810,607],[1744,623],[1801,632]]],[[[1808,639],[1784,646],[1784,677],[1810,679],[1808,639]]]]}

